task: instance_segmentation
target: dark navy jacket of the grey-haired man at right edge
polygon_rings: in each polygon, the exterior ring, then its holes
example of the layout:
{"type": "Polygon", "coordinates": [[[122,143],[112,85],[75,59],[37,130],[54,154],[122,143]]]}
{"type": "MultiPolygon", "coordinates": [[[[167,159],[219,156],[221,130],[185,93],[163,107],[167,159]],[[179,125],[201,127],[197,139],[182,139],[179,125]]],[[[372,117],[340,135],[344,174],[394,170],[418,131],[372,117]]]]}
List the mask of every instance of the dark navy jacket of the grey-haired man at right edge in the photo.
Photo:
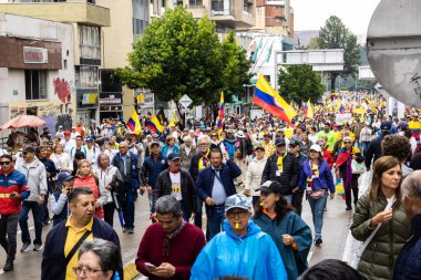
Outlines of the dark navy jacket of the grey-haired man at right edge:
{"type": "Polygon", "coordinates": [[[413,235],[394,263],[393,280],[421,279],[421,214],[412,218],[413,235]]]}

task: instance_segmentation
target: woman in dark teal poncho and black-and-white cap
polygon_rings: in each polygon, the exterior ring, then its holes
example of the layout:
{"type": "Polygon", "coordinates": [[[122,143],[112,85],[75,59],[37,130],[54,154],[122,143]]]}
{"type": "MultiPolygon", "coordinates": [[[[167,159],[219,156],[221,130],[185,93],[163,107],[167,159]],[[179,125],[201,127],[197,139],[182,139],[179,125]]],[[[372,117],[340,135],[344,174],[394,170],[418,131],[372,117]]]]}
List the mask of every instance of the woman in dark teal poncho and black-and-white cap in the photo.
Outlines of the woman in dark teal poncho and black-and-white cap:
{"type": "Polygon", "coordinates": [[[260,204],[251,218],[275,241],[288,279],[297,279],[307,268],[311,248],[311,229],[280,195],[280,184],[265,182],[259,188],[260,204]]]}

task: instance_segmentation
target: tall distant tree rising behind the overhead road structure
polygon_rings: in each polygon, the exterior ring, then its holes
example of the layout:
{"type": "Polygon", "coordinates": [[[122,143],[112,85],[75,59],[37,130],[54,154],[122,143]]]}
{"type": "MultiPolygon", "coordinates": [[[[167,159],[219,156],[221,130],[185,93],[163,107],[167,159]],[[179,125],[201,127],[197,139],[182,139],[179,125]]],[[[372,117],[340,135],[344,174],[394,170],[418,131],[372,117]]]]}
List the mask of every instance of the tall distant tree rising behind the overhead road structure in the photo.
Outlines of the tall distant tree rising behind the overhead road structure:
{"type": "Polygon", "coordinates": [[[338,75],[356,77],[358,64],[360,62],[360,46],[357,37],[342,23],[342,21],[331,15],[320,29],[318,46],[320,49],[343,49],[343,71],[330,72],[331,90],[335,90],[335,81],[338,75]]]}

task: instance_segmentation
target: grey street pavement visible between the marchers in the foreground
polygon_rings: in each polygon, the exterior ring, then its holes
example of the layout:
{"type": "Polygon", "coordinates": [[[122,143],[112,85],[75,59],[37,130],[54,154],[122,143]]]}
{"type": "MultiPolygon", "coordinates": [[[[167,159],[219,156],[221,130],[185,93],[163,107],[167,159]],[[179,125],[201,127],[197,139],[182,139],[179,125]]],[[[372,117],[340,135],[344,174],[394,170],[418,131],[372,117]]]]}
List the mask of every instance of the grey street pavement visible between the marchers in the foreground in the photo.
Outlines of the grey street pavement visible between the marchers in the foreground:
{"type": "MultiPolygon", "coordinates": [[[[345,201],[339,196],[336,196],[333,200],[328,201],[328,210],[325,212],[325,226],[322,231],[324,243],[320,248],[312,247],[309,260],[310,265],[321,261],[327,258],[342,259],[343,248],[348,235],[347,224],[349,222],[350,212],[345,211],[345,201]]],[[[302,217],[307,224],[311,227],[311,212],[308,203],[304,200],[302,217]]],[[[115,216],[114,222],[117,221],[115,216]]],[[[29,219],[29,225],[32,226],[32,217],[29,219]]],[[[147,197],[140,197],[136,201],[136,228],[134,235],[123,235],[120,225],[115,225],[116,231],[120,236],[122,243],[123,261],[129,263],[132,261],[137,251],[140,240],[148,222],[147,211],[147,197]]],[[[43,239],[45,239],[45,232],[51,226],[47,227],[43,232],[43,239]]],[[[33,236],[33,229],[31,230],[33,236]]],[[[18,253],[14,262],[14,270],[8,273],[3,273],[0,270],[0,280],[21,280],[21,279],[39,279],[41,271],[41,252],[28,251],[21,253],[19,251],[21,247],[20,234],[18,235],[18,253]]],[[[6,261],[6,253],[1,249],[0,266],[3,267],[6,261]]]]}

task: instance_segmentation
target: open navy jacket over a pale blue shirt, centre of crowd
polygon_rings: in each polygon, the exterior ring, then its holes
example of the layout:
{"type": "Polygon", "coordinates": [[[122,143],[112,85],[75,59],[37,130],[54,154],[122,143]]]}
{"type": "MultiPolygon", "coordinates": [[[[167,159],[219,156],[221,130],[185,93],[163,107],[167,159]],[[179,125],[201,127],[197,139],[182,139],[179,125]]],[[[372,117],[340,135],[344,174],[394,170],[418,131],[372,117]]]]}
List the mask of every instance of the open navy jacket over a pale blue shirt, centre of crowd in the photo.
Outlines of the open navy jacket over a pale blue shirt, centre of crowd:
{"type": "MultiPolygon", "coordinates": [[[[234,185],[234,179],[242,175],[239,167],[232,160],[228,159],[226,164],[222,165],[222,170],[219,172],[220,179],[223,182],[226,196],[232,196],[237,194],[234,185]]],[[[196,191],[203,200],[207,197],[212,197],[212,189],[214,188],[215,172],[212,165],[203,169],[196,180],[196,191]]]]}

